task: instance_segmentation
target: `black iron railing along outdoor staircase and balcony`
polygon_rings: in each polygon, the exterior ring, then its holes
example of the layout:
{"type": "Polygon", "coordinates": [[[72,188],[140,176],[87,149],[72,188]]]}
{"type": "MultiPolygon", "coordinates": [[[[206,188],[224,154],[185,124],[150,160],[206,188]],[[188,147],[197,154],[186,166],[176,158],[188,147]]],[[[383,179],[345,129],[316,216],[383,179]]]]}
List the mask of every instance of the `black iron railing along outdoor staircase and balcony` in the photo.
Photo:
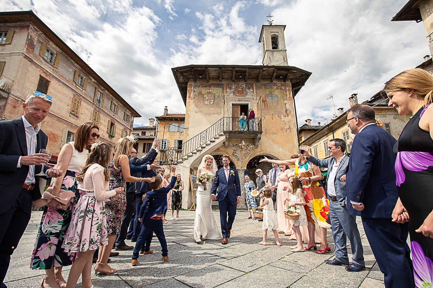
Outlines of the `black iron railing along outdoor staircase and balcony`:
{"type": "Polygon", "coordinates": [[[179,147],[168,147],[160,150],[160,164],[177,164],[202,151],[214,143],[217,138],[225,137],[228,146],[229,138],[254,139],[259,145],[262,135],[262,118],[246,119],[245,123],[239,117],[223,117],[206,130],[185,141],[179,147]],[[253,121],[250,121],[253,120],[253,121]]]}

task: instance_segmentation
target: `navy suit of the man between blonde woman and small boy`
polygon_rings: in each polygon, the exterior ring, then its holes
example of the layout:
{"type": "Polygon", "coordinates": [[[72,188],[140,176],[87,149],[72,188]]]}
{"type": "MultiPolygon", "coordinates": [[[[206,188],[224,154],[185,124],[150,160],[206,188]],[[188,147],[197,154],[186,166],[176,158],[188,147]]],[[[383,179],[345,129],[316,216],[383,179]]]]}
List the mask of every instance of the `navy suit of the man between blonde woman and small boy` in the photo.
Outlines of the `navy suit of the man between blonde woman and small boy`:
{"type": "MultiPolygon", "coordinates": [[[[139,159],[138,157],[132,157],[129,159],[129,170],[131,176],[142,177],[142,173],[147,171],[147,165],[152,164],[158,153],[154,148],[149,150],[149,153],[145,157],[139,159]]],[[[119,234],[116,238],[116,248],[125,246],[125,239],[128,233],[128,227],[134,214],[136,207],[136,190],[141,186],[141,182],[126,183],[126,209],[125,215],[123,216],[122,226],[120,227],[119,234]]]]}

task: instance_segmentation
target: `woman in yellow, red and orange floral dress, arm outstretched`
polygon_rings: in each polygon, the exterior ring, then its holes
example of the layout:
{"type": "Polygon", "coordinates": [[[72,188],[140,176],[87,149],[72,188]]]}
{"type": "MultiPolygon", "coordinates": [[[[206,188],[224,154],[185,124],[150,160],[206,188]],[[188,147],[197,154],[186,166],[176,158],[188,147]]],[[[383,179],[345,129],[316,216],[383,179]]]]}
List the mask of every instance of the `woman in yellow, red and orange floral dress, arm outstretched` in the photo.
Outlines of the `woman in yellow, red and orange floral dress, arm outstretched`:
{"type": "MultiPolygon", "coordinates": [[[[307,150],[308,153],[311,152],[310,146],[301,145],[299,149],[307,150]]],[[[299,158],[290,160],[260,160],[260,162],[270,162],[276,163],[278,165],[294,165],[295,166],[295,176],[299,177],[302,183],[302,188],[306,195],[304,196],[305,202],[305,212],[307,213],[308,221],[308,233],[310,234],[310,239],[305,247],[305,250],[311,250],[311,248],[316,247],[314,242],[314,230],[315,225],[320,227],[320,248],[317,253],[324,254],[330,250],[328,241],[326,240],[326,229],[330,228],[331,225],[326,222],[329,214],[329,202],[326,199],[325,190],[323,185],[319,180],[323,179],[322,173],[320,173],[319,167],[313,165],[309,160],[305,158],[302,154],[298,154],[299,158]]],[[[314,249],[316,250],[316,249],[314,249]]]]}

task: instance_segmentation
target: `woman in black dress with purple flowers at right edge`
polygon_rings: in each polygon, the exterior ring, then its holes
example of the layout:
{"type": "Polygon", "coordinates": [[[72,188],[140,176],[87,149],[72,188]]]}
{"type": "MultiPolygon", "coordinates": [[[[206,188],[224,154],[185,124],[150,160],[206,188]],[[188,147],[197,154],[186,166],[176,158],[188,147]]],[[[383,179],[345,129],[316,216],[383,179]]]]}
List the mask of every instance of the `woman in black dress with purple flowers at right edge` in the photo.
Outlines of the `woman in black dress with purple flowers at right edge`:
{"type": "Polygon", "coordinates": [[[412,114],[394,146],[398,201],[393,221],[409,221],[416,287],[433,283],[433,76],[406,70],[385,84],[388,106],[412,114]],[[410,219],[410,220],[409,220],[410,219]]]}

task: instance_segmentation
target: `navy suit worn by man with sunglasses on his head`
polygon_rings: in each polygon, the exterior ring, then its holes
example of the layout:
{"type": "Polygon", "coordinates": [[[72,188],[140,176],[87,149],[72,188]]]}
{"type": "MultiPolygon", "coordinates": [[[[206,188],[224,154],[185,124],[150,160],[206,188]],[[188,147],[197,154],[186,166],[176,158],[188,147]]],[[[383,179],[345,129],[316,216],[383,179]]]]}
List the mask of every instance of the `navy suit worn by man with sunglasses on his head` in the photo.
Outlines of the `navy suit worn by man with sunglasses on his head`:
{"type": "MultiPolygon", "coordinates": [[[[48,137],[39,130],[36,134],[36,149],[47,146],[48,137]]],[[[16,249],[30,220],[32,201],[41,198],[39,177],[35,176],[32,190],[23,189],[28,165],[17,168],[20,156],[27,156],[27,140],[23,119],[0,121],[0,287],[5,288],[3,279],[9,268],[10,256],[16,249]]],[[[35,175],[41,172],[41,165],[35,166],[35,175]]],[[[44,171],[50,169],[45,166],[44,171]]]]}

